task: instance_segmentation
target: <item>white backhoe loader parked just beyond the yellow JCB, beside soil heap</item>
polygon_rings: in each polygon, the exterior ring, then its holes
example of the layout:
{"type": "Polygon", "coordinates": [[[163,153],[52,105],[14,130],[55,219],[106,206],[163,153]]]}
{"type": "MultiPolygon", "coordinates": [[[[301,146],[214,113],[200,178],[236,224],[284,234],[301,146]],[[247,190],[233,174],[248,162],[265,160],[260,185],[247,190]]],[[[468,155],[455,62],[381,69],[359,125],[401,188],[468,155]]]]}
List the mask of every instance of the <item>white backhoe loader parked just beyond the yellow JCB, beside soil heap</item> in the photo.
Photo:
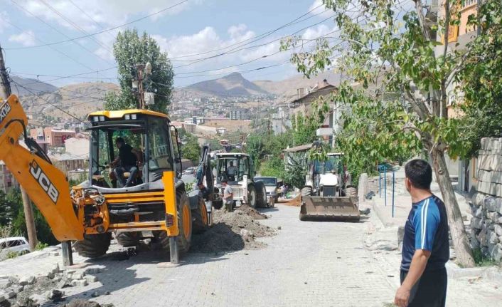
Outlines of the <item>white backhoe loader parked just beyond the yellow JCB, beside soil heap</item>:
{"type": "Polygon", "coordinates": [[[220,209],[223,206],[221,199],[221,181],[228,180],[228,185],[233,189],[235,202],[247,204],[250,207],[267,207],[267,190],[261,181],[255,182],[255,170],[250,155],[242,152],[217,153],[215,155],[215,194],[213,207],[220,209]]]}

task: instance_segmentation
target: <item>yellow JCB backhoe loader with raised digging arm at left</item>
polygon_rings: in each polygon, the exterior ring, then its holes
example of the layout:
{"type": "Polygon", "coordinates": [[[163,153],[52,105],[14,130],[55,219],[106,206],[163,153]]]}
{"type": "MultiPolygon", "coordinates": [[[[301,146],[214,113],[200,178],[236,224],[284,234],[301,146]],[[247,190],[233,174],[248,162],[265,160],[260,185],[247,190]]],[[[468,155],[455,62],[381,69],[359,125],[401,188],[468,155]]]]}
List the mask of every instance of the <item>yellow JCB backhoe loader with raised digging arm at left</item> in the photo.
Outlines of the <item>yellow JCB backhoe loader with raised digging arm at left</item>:
{"type": "Polygon", "coordinates": [[[0,160],[63,243],[64,264],[72,264],[72,241],[80,255],[93,258],[106,253],[112,233],[124,246],[151,236],[169,250],[171,263],[178,264],[179,255],[190,247],[192,232],[208,227],[208,215],[201,197],[189,199],[186,194],[178,135],[168,115],[144,109],[115,110],[90,113],[88,120],[88,178],[70,187],[63,172],[28,137],[28,119],[16,95],[0,107],[0,160]],[[136,171],[121,173],[122,180],[133,176],[126,186],[117,180],[112,163],[119,153],[117,137],[133,147],[138,157],[136,171]],[[19,144],[20,138],[28,150],[19,144]]]}

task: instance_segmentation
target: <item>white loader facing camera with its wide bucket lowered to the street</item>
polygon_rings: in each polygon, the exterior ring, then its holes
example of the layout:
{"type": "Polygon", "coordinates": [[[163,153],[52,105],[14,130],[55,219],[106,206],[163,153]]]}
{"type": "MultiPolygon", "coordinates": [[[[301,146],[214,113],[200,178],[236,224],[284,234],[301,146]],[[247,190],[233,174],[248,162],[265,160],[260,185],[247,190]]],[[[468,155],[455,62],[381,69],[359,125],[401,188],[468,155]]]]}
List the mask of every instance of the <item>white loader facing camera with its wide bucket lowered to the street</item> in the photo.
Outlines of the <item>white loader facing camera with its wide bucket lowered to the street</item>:
{"type": "Polygon", "coordinates": [[[358,221],[361,216],[356,187],[347,182],[343,154],[331,152],[327,156],[325,161],[308,162],[306,184],[301,189],[300,220],[358,221]]]}

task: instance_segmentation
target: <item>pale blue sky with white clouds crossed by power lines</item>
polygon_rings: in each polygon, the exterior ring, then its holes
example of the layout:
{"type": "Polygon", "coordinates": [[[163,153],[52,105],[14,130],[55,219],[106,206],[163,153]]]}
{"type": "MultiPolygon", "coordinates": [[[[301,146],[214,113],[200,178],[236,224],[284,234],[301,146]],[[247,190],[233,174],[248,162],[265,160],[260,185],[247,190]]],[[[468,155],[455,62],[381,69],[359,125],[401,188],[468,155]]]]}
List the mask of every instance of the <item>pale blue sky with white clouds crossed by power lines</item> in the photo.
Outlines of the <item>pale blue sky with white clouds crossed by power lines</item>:
{"type": "Polygon", "coordinates": [[[112,46],[126,28],[146,31],[167,52],[175,87],[232,72],[282,80],[298,73],[280,38],[329,35],[331,16],[321,0],[0,0],[0,44],[11,74],[57,86],[117,82],[112,46]]]}

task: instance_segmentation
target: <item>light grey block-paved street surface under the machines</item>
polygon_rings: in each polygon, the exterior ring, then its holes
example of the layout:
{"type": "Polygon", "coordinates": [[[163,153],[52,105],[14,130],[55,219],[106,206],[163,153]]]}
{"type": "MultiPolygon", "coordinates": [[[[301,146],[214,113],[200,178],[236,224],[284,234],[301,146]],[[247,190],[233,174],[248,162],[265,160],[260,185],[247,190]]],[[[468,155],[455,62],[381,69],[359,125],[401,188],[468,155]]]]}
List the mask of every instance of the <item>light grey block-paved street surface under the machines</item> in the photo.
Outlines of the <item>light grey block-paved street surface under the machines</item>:
{"type": "MultiPolygon", "coordinates": [[[[300,222],[299,208],[278,204],[260,221],[281,227],[262,239],[265,249],[228,254],[188,254],[177,268],[159,268],[166,255],[148,251],[119,261],[114,254],[90,261],[100,267],[98,282],[65,288],[71,298],[91,298],[114,306],[385,306],[397,288],[397,251],[385,245],[378,219],[360,223],[300,222]],[[105,293],[110,294],[105,295],[105,293]]],[[[387,242],[388,243],[388,242],[387,242]]],[[[0,275],[49,271],[60,256],[33,253],[0,262],[0,275]],[[28,255],[27,255],[28,256],[28,255]]],[[[449,281],[448,306],[484,306],[500,301],[497,285],[480,279],[449,281]],[[480,301],[477,300],[476,303],[480,301]]]]}

